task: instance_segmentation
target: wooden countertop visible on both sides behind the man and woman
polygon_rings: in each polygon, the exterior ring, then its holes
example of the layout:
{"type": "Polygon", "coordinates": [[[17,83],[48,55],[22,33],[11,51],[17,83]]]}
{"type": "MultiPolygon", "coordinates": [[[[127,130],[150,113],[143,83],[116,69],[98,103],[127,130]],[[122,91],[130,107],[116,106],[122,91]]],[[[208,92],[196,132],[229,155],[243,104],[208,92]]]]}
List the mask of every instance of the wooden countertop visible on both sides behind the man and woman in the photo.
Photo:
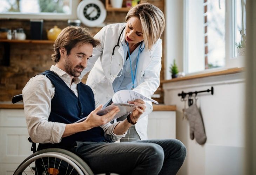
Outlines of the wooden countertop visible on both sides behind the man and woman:
{"type": "MultiPolygon", "coordinates": [[[[1,109],[24,109],[23,103],[0,103],[1,109]]],[[[153,111],[176,111],[176,105],[153,105],[153,111]]]]}

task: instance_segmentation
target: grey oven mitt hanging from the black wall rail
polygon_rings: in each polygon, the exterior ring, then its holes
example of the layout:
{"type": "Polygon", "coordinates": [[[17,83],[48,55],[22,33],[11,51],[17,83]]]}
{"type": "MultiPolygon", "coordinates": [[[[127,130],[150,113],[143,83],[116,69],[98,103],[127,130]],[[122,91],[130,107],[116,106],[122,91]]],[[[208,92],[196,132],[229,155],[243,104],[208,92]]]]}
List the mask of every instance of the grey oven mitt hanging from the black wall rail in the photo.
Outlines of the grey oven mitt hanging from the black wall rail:
{"type": "Polygon", "coordinates": [[[190,139],[193,140],[195,137],[198,144],[204,144],[206,142],[206,133],[204,131],[203,118],[196,103],[189,106],[184,112],[190,126],[190,139]]]}

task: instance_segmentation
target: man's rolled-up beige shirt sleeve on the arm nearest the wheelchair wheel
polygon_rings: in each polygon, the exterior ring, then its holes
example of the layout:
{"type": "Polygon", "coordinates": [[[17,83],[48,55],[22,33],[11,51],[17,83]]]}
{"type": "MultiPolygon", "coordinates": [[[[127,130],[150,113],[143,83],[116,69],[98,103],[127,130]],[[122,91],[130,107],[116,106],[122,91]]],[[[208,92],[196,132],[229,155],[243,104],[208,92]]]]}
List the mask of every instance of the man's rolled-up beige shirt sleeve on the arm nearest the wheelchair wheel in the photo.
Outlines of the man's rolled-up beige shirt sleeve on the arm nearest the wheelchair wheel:
{"type": "Polygon", "coordinates": [[[66,124],[48,121],[54,86],[45,75],[29,80],[22,90],[29,137],[36,143],[59,143],[66,124]]]}

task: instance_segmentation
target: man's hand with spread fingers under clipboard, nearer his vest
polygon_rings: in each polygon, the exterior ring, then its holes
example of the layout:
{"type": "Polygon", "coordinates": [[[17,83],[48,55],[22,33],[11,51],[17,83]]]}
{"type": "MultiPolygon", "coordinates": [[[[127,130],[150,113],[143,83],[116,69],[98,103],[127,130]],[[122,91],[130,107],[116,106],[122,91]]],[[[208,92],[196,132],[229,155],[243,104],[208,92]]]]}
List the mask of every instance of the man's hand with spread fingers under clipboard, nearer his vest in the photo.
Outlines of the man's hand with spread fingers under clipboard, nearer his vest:
{"type": "Polygon", "coordinates": [[[103,105],[96,107],[96,109],[88,115],[86,120],[82,122],[86,127],[89,126],[91,129],[97,126],[104,125],[109,121],[111,121],[114,118],[114,116],[117,114],[117,112],[119,112],[118,106],[115,106],[109,113],[103,116],[98,116],[97,112],[99,112],[102,109],[102,106],[103,105]]]}

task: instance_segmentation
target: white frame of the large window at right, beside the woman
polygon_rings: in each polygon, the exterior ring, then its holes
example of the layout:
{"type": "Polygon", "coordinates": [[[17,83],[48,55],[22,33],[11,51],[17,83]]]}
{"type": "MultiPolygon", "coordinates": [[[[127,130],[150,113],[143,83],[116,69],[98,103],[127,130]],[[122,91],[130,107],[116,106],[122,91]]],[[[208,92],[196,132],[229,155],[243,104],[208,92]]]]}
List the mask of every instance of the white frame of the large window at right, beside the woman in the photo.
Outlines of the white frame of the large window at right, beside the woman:
{"type": "MultiPolygon", "coordinates": [[[[220,68],[211,68],[211,69],[205,69],[198,72],[188,73],[188,13],[186,9],[188,8],[187,0],[182,1],[182,11],[177,12],[178,14],[170,13],[169,10],[171,10],[171,7],[168,5],[177,5],[172,2],[166,2],[166,20],[173,22],[171,18],[174,18],[174,16],[182,16],[183,23],[181,33],[178,33],[182,35],[182,44],[176,45],[176,50],[173,50],[174,52],[170,52],[168,50],[169,47],[173,47],[175,42],[180,42],[176,40],[172,40],[171,35],[166,35],[166,70],[169,70],[169,65],[173,63],[173,59],[176,59],[178,68],[180,72],[184,72],[186,75],[194,75],[194,74],[200,74],[200,73],[206,73],[206,72],[215,72],[220,70],[225,70],[229,68],[236,68],[236,67],[244,67],[244,56],[238,56],[235,57],[235,0],[225,0],[225,66],[220,68]],[[172,40],[172,41],[171,41],[172,40]],[[180,46],[180,47],[178,47],[180,46]],[[182,50],[182,55],[180,54],[180,51],[182,50]],[[180,55],[180,57],[176,57],[177,55],[180,55]]],[[[174,21],[175,22],[175,21],[174,21]]],[[[173,28],[177,28],[175,30],[180,30],[178,22],[172,23],[170,26],[166,26],[166,31],[172,31],[173,28]]],[[[167,32],[166,32],[167,33],[167,32]]],[[[166,78],[170,79],[170,72],[166,71],[166,78]]]]}

